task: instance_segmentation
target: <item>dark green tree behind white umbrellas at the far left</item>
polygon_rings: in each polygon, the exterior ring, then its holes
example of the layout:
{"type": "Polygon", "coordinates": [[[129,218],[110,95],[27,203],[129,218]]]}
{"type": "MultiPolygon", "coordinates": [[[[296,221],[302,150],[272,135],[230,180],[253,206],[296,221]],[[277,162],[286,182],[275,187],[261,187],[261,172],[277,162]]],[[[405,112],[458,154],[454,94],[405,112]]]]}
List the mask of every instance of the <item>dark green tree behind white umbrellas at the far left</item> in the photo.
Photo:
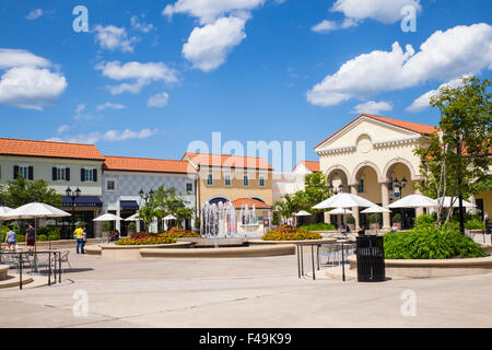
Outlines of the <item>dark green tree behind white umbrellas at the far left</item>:
{"type": "Polygon", "coordinates": [[[61,208],[61,196],[55,189],[49,188],[48,183],[43,179],[27,180],[19,176],[3,186],[1,197],[5,206],[11,208],[17,208],[33,201],[61,208]]]}

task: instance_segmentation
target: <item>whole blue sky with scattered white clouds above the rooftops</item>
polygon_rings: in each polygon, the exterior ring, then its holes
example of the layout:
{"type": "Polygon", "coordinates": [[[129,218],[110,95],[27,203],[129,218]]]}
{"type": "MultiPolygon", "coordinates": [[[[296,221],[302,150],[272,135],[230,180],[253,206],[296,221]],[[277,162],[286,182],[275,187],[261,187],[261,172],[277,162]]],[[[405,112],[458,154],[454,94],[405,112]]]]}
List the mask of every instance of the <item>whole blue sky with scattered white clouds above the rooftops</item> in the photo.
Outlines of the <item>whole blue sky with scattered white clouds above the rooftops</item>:
{"type": "Polygon", "coordinates": [[[221,131],[305,141],[317,160],[359,112],[436,124],[415,100],[490,79],[491,13],[488,0],[2,0],[1,135],[178,159],[221,131]],[[89,33],[72,28],[78,4],[89,33]]]}

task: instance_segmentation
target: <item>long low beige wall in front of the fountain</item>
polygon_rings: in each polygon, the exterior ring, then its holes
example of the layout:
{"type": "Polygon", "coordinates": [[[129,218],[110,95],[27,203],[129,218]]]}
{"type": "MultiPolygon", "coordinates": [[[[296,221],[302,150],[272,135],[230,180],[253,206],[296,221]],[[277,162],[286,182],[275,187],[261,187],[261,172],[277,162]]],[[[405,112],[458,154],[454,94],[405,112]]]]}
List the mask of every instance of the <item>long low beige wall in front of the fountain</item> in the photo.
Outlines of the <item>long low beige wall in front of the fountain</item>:
{"type": "Polygon", "coordinates": [[[294,245],[251,246],[235,248],[192,248],[192,249],[153,249],[140,250],[142,259],[173,258],[253,258],[281,255],[294,255],[294,245]]]}

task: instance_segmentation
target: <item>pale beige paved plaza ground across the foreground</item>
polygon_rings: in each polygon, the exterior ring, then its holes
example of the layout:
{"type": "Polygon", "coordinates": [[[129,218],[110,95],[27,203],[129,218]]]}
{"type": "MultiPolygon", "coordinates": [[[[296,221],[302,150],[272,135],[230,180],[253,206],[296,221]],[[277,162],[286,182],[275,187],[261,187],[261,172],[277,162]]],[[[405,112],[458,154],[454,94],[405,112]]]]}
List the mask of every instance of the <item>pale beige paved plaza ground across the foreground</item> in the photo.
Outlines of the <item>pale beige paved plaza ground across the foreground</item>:
{"type": "Polygon", "coordinates": [[[297,278],[295,256],[102,261],[73,250],[71,264],[61,284],[0,290],[1,326],[492,326],[492,273],[383,283],[313,281],[297,278]],[[73,296],[85,292],[87,314],[75,316],[80,300],[73,296]],[[402,293],[414,293],[415,316],[402,315],[402,293]]]}

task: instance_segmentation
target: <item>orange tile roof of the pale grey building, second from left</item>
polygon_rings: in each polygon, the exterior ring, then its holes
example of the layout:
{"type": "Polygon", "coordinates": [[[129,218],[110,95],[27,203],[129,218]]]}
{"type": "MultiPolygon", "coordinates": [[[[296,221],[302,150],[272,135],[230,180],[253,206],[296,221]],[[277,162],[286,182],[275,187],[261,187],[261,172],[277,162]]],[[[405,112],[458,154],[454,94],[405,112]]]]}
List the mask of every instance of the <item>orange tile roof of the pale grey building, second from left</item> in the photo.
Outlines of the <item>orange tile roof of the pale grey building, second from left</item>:
{"type": "Polygon", "coordinates": [[[107,171],[151,172],[151,173],[196,173],[188,162],[156,160],[147,158],[105,155],[103,168],[107,171]]]}

